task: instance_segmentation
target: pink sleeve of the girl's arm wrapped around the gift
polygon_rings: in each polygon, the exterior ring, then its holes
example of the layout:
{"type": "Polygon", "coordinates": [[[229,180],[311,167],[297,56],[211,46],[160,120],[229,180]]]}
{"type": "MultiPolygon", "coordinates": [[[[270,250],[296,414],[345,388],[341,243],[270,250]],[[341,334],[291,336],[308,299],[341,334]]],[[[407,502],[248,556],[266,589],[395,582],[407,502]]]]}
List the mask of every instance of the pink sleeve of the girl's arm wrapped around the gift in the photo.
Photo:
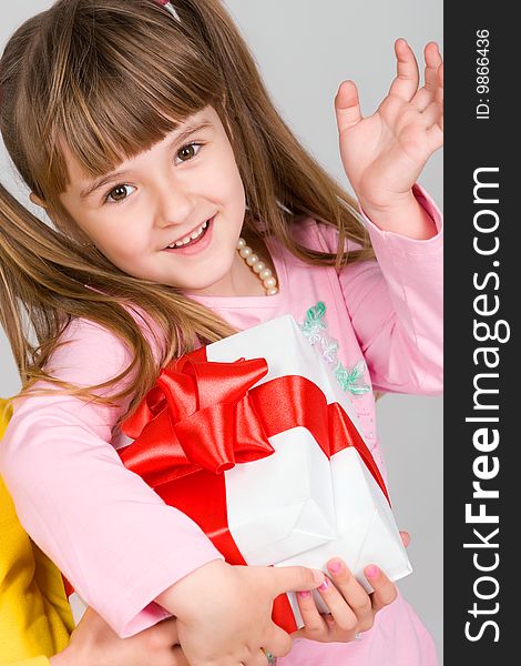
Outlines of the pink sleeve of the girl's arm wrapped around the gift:
{"type": "MultiPolygon", "coordinates": [[[[119,374],[127,347],[74,321],[52,366],[89,385],[119,374]]],[[[74,397],[18,401],[0,445],[0,471],[20,521],[85,603],[122,637],[167,613],[153,599],[203,564],[222,558],[187,516],[129,472],[110,444],[122,410],[74,397]]]]}

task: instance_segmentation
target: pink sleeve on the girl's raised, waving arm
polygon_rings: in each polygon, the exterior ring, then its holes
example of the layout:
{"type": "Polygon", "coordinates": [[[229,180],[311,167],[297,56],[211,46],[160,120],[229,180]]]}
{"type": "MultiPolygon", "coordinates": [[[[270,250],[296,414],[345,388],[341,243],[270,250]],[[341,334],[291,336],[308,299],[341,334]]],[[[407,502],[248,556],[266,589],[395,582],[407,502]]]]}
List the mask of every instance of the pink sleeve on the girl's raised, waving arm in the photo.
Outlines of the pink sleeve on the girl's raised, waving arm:
{"type": "Polygon", "coordinates": [[[420,185],[413,191],[437,235],[412,240],[364,215],[378,261],[350,264],[339,280],[374,390],[436,394],[443,382],[442,216],[420,185]]]}

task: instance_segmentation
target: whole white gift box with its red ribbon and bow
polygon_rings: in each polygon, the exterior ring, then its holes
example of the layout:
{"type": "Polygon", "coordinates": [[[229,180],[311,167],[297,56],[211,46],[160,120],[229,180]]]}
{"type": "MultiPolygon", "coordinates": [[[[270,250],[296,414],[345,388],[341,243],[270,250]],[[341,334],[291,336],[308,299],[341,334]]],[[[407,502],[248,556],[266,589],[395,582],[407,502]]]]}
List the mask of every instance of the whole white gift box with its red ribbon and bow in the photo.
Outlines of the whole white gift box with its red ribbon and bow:
{"type": "MultiPolygon", "coordinates": [[[[339,556],[368,591],[369,563],[392,581],[411,572],[350,400],[289,315],[173,362],[123,431],[124,464],[231,564],[339,556]]],[[[293,595],[274,619],[302,626],[293,595]]]]}

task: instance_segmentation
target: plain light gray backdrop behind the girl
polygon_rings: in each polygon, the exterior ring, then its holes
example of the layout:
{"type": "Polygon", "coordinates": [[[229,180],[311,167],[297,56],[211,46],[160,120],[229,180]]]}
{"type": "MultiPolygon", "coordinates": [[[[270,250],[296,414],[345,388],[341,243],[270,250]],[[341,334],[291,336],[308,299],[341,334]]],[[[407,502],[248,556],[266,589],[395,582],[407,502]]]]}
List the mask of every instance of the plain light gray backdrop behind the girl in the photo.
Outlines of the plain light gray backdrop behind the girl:
{"type": "MultiPolygon", "coordinates": [[[[441,0],[226,0],[257,59],[275,103],[297,137],[339,182],[348,186],[339,153],[333,100],[339,83],[358,84],[362,112],[370,114],[395,73],[392,43],[405,37],[422,58],[436,40],[442,50],[441,0]]],[[[50,0],[2,3],[0,48],[27,18],[50,0]]],[[[420,67],[422,61],[420,60],[420,67]]],[[[442,153],[420,182],[442,203],[442,153]]],[[[1,145],[0,178],[28,205],[1,145]]],[[[34,211],[34,208],[30,206],[34,211]]],[[[0,395],[16,392],[18,373],[0,332],[0,395]]],[[[415,572],[400,583],[442,642],[442,398],[387,395],[378,404],[380,438],[389,468],[397,522],[411,533],[415,572]]]]}

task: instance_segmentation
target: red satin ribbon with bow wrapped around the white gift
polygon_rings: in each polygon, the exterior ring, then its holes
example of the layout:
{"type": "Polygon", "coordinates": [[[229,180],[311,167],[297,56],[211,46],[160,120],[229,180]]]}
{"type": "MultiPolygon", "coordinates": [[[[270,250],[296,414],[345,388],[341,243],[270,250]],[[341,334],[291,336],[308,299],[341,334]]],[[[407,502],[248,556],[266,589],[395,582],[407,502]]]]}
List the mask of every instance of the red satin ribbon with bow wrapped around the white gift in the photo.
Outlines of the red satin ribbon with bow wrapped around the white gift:
{"type": "MultiPolygon", "coordinates": [[[[135,441],[121,460],[171,506],[194,519],[229,564],[247,564],[228,528],[225,475],[236,463],[272,455],[268,437],[307,428],[330,458],[354,446],[389,501],[364,440],[338,403],[327,404],[309,380],[287,375],[255,383],[264,359],[234,363],[206,360],[204,347],[163,369],[122,430],[135,441]]],[[[274,603],[274,620],[288,633],[296,623],[286,595],[274,603]]]]}

